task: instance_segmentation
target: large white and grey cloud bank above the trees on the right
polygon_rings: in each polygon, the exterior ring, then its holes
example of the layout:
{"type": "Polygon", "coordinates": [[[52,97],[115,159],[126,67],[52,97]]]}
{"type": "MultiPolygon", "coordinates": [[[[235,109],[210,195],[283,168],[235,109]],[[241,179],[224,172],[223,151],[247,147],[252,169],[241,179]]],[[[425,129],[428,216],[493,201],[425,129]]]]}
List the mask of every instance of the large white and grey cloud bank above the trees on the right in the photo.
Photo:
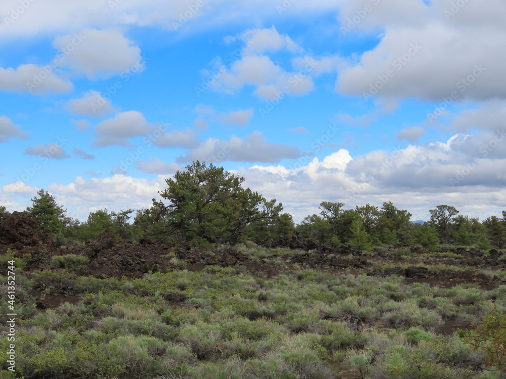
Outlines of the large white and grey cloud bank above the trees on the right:
{"type": "Polygon", "coordinates": [[[438,204],[488,217],[500,215],[506,200],[506,134],[504,142],[497,139],[455,135],[444,144],[374,151],[354,159],[340,150],[302,167],[255,165],[241,173],[254,191],[268,198],[282,194],[278,200],[299,222],[317,213],[322,199],[344,202],[347,209],[392,201],[413,219],[428,219],[428,210],[438,204]]]}

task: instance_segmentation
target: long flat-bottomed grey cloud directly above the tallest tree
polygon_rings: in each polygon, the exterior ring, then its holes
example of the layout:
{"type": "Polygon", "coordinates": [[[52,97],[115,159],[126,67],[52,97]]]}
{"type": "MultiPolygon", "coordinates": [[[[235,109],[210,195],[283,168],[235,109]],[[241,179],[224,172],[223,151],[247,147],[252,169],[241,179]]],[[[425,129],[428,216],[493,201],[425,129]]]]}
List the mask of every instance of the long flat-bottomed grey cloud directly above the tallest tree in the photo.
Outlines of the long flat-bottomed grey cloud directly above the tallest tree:
{"type": "Polygon", "coordinates": [[[244,138],[233,135],[228,141],[208,138],[197,148],[191,149],[186,156],[179,157],[178,162],[200,160],[276,163],[284,158],[300,156],[298,147],[270,143],[261,132],[255,131],[244,138]]]}

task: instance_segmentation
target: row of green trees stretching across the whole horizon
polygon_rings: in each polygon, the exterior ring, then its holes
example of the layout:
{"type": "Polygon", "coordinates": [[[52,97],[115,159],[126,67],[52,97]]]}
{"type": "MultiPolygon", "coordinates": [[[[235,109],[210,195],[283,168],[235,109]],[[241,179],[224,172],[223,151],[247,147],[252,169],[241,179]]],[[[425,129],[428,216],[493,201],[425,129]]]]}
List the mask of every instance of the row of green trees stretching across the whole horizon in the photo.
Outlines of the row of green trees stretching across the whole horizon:
{"type": "MultiPolygon", "coordinates": [[[[366,204],[344,209],[344,203],[322,201],[318,214],[296,225],[290,214],[282,213],[281,203],[243,188],[243,182],[242,176],[223,167],[196,161],[166,179],[167,188],[159,192],[161,200],[153,199],[150,208],[136,212],[100,209],[80,222],[40,189],[27,211],[62,244],[82,243],[108,231],[120,241],[165,239],[196,247],[292,236],[333,246],[348,243],[362,251],[403,244],[417,244],[431,251],[440,244],[475,246],[483,251],[506,247],[506,211],[502,211],[502,218],[490,216],[480,221],[459,214],[453,206],[438,205],[429,210],[427,222],[413,223],[411,213],[392,202],[381,207],[366,204]]],[[[0,206],[0,218],[5,213],[5,207],[0,206]]]]}

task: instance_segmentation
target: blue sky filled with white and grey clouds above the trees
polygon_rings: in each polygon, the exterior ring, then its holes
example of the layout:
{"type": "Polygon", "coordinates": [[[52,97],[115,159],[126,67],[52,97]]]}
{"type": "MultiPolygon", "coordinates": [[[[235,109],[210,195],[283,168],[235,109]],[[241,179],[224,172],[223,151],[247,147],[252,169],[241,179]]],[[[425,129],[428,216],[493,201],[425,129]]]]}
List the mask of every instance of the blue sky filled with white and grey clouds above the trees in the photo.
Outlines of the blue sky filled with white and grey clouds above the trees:
{"type": "Polygon", "coordinates": [[[0,205],[142,209],[192,161],[301,222],[506,209],[502,0],[3,0],[0,205]]]}

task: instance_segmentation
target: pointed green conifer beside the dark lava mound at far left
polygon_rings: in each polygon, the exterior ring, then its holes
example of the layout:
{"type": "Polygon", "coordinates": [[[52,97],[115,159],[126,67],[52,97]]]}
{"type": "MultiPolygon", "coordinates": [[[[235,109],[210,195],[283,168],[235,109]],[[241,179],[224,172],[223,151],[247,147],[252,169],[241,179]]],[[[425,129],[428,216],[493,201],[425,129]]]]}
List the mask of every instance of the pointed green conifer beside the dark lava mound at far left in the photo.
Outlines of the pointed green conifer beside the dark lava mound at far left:
{"type": "Polygon", "coordinates": [[[70,222],[66,216],[67,210],[60,207],[55,198],[44,189],[37,192],[38,198],[31,199],[32,206],[26,210],[40,225],[48,229],[52,234],[60,234],[70,222]]]}

